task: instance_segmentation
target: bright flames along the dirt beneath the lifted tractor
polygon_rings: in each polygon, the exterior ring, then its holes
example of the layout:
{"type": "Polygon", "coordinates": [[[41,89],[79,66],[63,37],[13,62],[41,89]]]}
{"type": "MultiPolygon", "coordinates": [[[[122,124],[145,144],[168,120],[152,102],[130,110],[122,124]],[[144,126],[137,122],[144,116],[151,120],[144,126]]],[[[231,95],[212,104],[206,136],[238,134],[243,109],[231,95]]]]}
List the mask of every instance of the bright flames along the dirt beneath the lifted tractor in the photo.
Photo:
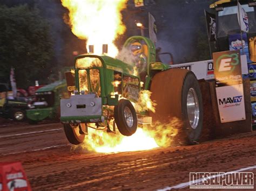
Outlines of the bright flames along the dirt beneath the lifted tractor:
{"type": "Polygon", "coordinates": [[[118,131],[116,133],[106,133],[105,131],[89,128],[89,135],[86,136],[84,143],[72,145],[71,149],[75,151],[117,153],[171,146],[173,137],[178,134],[181,124],[177,118],[173,118],[169,124],[156,122],[154,125],[145,125],[143,128],[138,128],[136,133],[129,137],[121,135],[118,131]]]}

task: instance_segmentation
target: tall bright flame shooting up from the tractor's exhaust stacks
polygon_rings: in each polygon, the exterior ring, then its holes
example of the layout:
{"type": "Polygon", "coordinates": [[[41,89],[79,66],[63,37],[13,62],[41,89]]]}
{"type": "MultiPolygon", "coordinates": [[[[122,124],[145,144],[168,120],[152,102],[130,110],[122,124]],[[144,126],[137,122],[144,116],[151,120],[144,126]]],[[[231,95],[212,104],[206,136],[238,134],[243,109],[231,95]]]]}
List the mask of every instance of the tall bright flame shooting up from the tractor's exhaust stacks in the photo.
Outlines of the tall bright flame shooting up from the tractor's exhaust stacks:
{"type": "Polygon", "coordinates": [[[118,53],[113,41],[125,32],[120,11],[127,0],[61,0],[69,9],[69,25],[73,34],[87,39],[87,46],[94,45],[95,54],[102,54],[102,45],[109,45],[109,55],[118,53]]]}

